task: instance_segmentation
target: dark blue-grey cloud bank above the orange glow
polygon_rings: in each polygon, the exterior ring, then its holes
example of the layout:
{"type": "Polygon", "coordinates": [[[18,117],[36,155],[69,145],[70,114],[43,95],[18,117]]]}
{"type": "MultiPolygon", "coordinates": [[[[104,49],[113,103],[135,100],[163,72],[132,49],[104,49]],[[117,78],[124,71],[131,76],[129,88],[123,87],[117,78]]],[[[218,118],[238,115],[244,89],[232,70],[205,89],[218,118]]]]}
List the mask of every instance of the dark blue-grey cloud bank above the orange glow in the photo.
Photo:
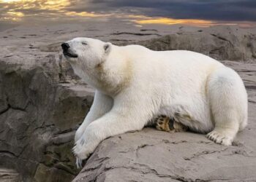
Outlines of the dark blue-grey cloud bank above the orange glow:
{"type": "Polygon", "coordinates": [[[94,0],[77,2],[67,9],[77,12],[129,12],[140,9],[148,16],[180,19],[256,21],[255,0],[94,0]]]}

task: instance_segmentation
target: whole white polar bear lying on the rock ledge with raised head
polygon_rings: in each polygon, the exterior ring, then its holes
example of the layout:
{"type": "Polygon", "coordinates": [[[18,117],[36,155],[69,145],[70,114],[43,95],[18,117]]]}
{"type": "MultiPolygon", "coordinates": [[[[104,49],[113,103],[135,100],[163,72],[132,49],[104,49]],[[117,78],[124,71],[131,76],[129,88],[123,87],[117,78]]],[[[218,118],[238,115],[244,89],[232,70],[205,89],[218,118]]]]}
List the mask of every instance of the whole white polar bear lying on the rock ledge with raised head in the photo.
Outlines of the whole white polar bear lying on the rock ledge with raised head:
{"type": "Polygon", "coordinates": [[[226,146],[246,126],[244,83],[236,71],[206,55],[118,47],[90,38],[61,47],[75,74],[96,89],[91,110],[75,133],[78,167],[105,138],[142,130],[159,115],[226,146]]]}

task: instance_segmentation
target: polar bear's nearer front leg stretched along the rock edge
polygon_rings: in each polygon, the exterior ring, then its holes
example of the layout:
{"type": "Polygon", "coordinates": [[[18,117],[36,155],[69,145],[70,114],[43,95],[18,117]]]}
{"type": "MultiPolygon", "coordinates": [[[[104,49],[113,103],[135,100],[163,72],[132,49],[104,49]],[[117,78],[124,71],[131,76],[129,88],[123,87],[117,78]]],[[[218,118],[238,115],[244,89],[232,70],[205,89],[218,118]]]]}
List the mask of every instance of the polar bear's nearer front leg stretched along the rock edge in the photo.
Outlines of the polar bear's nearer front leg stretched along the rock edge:
{"type": "Polygon", "coordinates": [[[123,106],[120,104],[113,106],[108,114],[91,122],[75,143],[73,148],[75,156],[78,159],[87,159],[105,138],[132,130],[141,130],[151,116],[150,111],[145,107],[140,108],[140,105],[141,103],[125,102],[123,106]]]}

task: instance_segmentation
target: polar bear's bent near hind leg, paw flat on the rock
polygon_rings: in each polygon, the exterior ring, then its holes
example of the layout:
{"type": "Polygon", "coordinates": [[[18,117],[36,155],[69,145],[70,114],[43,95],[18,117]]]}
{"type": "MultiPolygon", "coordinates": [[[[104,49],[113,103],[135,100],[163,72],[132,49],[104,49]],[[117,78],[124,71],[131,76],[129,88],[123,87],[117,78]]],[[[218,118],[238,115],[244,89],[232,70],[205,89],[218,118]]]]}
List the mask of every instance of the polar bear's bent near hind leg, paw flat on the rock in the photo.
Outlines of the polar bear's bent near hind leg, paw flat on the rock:
{"type": "Polygon", "coordinates": [[[208,97],[215,126],[206,137],[230,146],[247,118],[244,84],[232,69],[219,68],[208,79],[208,97]]]}

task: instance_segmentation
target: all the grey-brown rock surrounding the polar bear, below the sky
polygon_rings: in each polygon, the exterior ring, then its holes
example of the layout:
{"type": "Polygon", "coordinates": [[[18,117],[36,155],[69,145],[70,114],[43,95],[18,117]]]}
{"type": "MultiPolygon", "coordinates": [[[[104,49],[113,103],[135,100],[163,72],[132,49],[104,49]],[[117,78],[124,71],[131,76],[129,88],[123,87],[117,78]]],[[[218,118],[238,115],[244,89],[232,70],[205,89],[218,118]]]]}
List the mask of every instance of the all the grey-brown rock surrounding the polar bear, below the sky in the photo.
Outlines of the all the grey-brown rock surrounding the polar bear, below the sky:
{"type": "Polygon", "coordinates": [[[0,181],[255,181],[255,30],[100,25],[0,32],[0,181]],[[224,63],[246,84],[249,126],[230,147],[189,132],[118,135],[103,141],[79,173],[71,149],[94,90],[58,53],[62,41],[76,36],[237,60],[224,63]]]}

